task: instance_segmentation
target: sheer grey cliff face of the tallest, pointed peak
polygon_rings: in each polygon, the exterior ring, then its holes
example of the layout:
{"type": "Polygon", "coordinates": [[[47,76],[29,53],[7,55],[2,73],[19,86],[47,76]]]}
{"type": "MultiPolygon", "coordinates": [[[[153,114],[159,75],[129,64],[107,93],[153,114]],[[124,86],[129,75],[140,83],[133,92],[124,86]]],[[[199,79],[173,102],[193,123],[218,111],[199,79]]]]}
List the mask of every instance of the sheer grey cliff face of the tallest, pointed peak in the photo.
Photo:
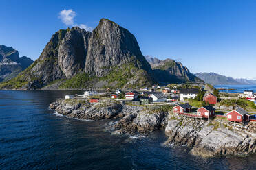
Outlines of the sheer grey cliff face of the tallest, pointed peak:
{"type": "Polygon", "coordinates": [[[113,67],[129,62],[152,72],[134,35],[112,21],[101,19],[89,40],[85,72],[102,77],[113,67]]]}

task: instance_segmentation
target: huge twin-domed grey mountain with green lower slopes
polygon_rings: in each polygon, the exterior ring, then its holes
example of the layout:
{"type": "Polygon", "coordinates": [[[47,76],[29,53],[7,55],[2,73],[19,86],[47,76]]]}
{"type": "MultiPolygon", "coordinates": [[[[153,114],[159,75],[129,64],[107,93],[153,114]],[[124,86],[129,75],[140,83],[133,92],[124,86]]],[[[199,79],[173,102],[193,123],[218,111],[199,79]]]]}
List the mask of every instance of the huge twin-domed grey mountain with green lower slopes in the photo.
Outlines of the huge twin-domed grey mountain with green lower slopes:
{"type": "Polygon", "coordinates": [[[59,30],[41,56],[0,88],[134,88],[153,82],[153,71],[133,34],[101,19],[93,32],[59,30]]]}

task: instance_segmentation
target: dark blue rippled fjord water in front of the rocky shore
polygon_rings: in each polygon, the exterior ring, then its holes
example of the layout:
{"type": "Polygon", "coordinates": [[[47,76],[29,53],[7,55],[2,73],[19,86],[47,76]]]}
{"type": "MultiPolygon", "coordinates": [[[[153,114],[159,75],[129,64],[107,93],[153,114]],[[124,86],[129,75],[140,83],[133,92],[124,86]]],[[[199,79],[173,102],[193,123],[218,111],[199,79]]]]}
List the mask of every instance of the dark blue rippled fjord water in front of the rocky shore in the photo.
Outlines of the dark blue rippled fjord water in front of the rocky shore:
{"type": "Polygon", "coordinates": [[[256,155],[200,158],[164,147],[163,131],[115,136],[114,120],[80,121],[48,109],[79,91],[0,91],[0,169],[255,169],[256,155]]]}

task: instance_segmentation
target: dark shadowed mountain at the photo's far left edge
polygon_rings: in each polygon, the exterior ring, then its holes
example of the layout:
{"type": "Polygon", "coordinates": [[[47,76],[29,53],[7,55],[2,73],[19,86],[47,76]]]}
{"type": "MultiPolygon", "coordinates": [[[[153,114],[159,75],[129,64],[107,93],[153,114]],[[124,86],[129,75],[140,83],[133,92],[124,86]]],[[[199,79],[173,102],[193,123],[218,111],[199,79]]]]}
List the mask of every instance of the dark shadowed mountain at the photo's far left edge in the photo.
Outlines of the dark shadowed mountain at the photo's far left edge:
{"type": "Polygon", "coordinates": [[[19,51],[12,47],[0,45],[0,82],[10,80],[26,69],[33,60],[28,57],[19,57],[19,51]]]}

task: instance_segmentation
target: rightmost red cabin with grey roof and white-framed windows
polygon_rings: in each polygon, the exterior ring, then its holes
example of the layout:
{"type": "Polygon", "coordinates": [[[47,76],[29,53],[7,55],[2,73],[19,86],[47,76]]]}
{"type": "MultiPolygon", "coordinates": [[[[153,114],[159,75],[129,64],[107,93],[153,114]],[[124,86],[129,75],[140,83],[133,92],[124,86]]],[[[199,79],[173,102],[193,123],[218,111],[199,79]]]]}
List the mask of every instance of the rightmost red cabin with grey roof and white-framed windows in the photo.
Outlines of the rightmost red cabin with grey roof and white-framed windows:
{"type": "Polygon", "coordinates": [[[244,122],[250,120],[250,114],[248,114],[248,112],[246,112],[246,110],[244,110],[243,108],[237,108],[236,110],[232,110],[226,115],[228,121],[244,122]]]}

